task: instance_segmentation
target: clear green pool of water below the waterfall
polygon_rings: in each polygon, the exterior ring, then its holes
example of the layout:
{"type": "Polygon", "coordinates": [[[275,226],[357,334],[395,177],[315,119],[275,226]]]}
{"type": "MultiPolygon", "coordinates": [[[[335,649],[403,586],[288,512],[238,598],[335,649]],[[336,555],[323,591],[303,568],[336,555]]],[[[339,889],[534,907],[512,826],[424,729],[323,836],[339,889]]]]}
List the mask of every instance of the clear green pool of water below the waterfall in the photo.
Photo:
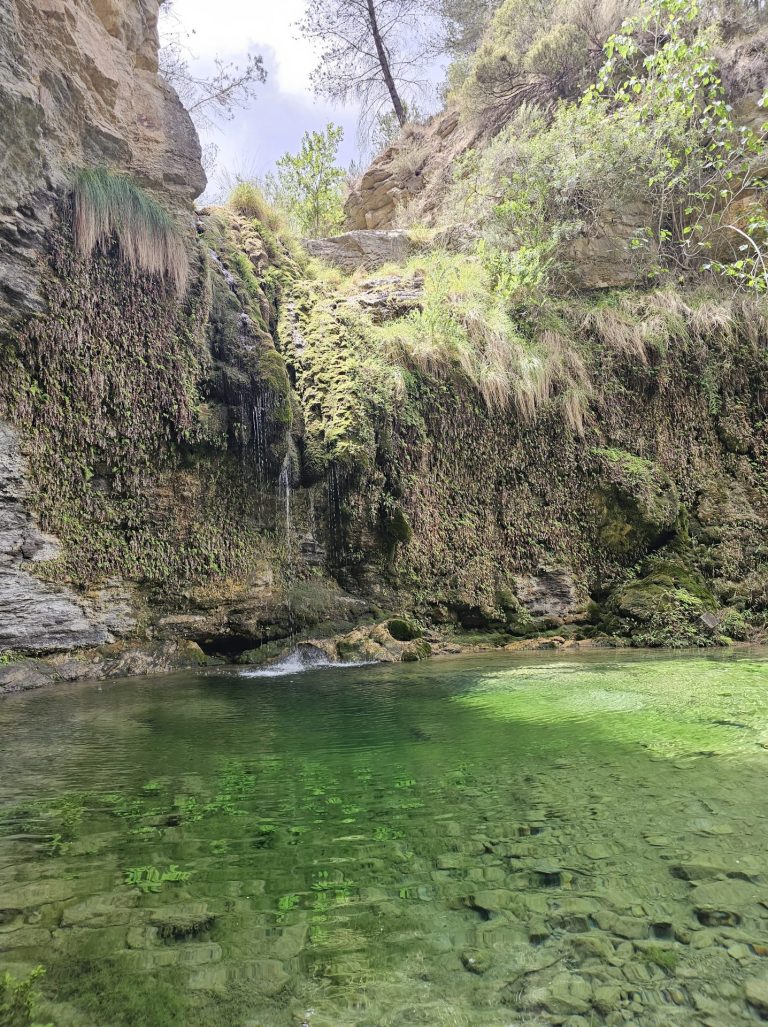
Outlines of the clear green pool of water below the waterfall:
{"type": "Polygon", "coordinates": [[[764,651],[64,686],[0,736],[38,1023],[759,1019],[764,651]]]}

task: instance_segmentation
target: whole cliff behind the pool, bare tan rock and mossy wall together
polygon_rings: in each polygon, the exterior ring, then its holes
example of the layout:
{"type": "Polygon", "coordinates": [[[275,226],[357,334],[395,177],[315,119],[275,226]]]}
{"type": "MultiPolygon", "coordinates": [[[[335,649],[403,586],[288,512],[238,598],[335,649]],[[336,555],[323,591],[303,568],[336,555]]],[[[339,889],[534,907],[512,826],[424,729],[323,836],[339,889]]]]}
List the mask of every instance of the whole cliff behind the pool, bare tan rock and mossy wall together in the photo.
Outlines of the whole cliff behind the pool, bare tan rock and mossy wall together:
{"type": "Polygon", "coordinates": [[[0,688],[20,654],[53,654],[44,681],[302,634],[419,658],[412,617],[513,645],[764,631],[765,299],[616,288],[623,210],[575,240],[581,292],[500,303],[515,268],[439,223],[459,155],[491,145],[451,112],[367,174],[360,230],[314,245],[343,274],[258,205],[194,214],[156,15],[2,8],[0,688]],[[99,165],[186,229],[182,295],[116,237],[78,248],[73,183],[99,165]],[[431,233],[371,230],[407,196],[431,233]],[[402,652],[352,631],[402,613],[402,652]]]}

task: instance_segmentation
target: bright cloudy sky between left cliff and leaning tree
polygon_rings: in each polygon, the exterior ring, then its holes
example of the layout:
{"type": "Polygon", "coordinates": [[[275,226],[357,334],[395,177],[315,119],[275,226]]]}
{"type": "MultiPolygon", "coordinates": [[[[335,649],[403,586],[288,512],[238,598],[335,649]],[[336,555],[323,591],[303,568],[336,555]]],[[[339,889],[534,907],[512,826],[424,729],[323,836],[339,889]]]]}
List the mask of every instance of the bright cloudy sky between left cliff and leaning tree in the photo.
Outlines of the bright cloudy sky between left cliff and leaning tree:
{"type": "Polygon", "coordinates": [[[257,85],[245,110],[231,121],[200,130],[203,145],[218,147],[217,167],[204,198],[216,199],[227,174],[262,176],[283,153],[296,152],[305,131],[333,121],[344,128],[340,163],[357,159],[357,110],[316,100],[309,74],[312,46],[299,37],[296,23],[305,0],[174,0],[166,31],[183,37],[195,74],[205,75],[216,56],[242,63],[261,53],[267,81],[257,85]]]}

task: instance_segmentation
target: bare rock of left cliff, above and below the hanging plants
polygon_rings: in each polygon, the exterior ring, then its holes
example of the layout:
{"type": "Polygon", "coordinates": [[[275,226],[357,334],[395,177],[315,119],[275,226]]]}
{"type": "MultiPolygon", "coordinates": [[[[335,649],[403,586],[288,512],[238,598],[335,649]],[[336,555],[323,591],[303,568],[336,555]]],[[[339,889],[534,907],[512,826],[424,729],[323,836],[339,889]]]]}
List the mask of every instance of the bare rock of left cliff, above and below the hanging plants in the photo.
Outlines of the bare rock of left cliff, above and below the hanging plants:
{"type": "MultiPolygon", "coordinates": [[[[205,178],[189,116],[157,72],[158,6],[157,0],[0,2],[5,360],[17,352],[18,327],[30,315],[50,313],[50,234],[74,169],[107,165],[129,173],[191,227],[191,201],[205,178]]],[[[4,405],[0,413],[11,410],[4,405]]],[[[30,495],[17,433],[26,444],[28,427],[24,417],[16,426],[0,422],[0,646],[44,651],[108,641],[112,627],[125,626],[121,616],[102,608],[98,596],[85,600],[27,569],[60,550],[33,518],[39,496],[30,495]]],[[[72,438],[61,445],[71,447],[72,438]]]]}

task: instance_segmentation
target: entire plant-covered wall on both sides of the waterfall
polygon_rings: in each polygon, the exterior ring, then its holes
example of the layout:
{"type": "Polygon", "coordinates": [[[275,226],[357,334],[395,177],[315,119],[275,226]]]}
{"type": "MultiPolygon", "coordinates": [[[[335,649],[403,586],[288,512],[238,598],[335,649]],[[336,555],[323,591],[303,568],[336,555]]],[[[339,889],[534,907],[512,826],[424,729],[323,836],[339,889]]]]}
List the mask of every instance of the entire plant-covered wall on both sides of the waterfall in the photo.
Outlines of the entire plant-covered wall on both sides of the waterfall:
{"type": "Polygon", "coordinates": [[[65,210],[49,311],[3,340],[0,413],[63,542],[39,575],[85,595],[128,582],[141,630],[243,645],[377,608],[639,644],[763,623],[759,302],[561,301],[583,409],[555,384],[524,417],[382,334],[404,272],[372,304],[371,282],[306,268],[227,211],[190,242],[180,301],[116,252],[77,256],[65,210]]]}

